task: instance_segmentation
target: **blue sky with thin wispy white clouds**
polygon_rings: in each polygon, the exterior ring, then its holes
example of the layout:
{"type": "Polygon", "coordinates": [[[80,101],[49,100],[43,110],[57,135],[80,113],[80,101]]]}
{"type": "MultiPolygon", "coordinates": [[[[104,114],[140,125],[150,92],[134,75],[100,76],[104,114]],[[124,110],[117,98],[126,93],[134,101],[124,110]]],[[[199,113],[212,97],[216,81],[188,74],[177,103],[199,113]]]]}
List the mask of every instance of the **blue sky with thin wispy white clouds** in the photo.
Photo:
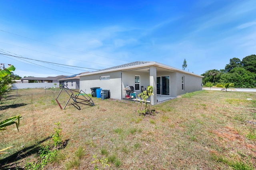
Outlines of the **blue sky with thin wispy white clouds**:
{"type": "Polygon", "coordinates": [[[0,1],[0,53],[28,58],[0,55],[0,63],[22,77],[133,61],[181,69],[184,59],[187,71],[202,74],[255,50],[255,0],[0,1]]]}

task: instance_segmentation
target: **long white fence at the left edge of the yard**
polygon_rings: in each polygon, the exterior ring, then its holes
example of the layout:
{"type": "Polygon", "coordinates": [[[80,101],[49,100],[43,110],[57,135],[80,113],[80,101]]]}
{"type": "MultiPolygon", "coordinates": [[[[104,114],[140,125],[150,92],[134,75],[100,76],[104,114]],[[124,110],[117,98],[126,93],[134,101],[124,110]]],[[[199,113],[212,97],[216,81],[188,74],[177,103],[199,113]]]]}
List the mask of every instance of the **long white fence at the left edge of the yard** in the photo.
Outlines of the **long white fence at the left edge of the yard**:
{"type": "Polygon", "coordinates": [[[12,89],[22,89],[22,88],[51,88],[51,87],[59,87],[59,84],[54,85],[56,83],[14,83],[12,84],[12,89]]]}

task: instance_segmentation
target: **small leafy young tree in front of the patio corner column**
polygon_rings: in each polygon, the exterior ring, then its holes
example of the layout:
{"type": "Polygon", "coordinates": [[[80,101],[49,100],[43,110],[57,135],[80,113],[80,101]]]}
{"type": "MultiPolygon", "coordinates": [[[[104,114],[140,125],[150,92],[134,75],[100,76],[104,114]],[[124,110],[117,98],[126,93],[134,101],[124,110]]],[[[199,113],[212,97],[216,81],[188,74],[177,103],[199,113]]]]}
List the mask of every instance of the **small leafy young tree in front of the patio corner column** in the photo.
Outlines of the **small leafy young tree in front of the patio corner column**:
{"type": "MultiPolygon", "coordinates": [[[[140,109],[138,109],[138,113],[141,115],[154,115],[156,113],[155,109],[151,109],[151,96],[153,96],[153,87],[148,86],[147,90],[143,91],[142,93],[138,94],[138,97],[140,97],[142,100],[140,100],[140,109]],[[148,104],[148,97],[150,97],[150,103],[148,104]]],[[[138,99],[137,99],[138,100],[138,99]]]]}

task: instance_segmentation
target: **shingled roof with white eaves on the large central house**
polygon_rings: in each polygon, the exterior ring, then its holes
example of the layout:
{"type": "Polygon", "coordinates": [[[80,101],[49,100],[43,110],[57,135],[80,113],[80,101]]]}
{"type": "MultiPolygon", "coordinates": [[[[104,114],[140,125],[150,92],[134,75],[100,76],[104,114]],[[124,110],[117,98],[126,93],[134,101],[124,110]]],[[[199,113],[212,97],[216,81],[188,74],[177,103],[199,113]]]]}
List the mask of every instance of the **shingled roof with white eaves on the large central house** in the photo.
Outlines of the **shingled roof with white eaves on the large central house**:
{"type": "Polygon", "coordinates": [[[184,72],[186,74],[191,74],[191,75],[194,75],[194,76],[204,77],[204,76],[200,76],[198,74],[194,74],[192,72],[187,72],[187,71],[184,71],[182,69],[175,68],[175,67],[172,67],[172,66],[168,66],[166,64],[158,63],[158,62],[155,62],[155,61],[136,61],[136,62],[132,62],[132,63],[128,63],[128,64],[122,64],[122,65],[119,65],[119,66],[114,66],[114,67],[105,68],[105,69],[102,69],[102,70],[97,70],[97,71],[94,71],[94,72],[89,72],[87,74],[80,74],[78,76],[86,76],[86,75],[91,75],[91,74],[99,74],[99,73],[112,72],[112,71],[122,71],[122,70],[129,70],[129,69],[148,67],[148,66],[157,66],[157,67],[164,68],[164,69],[167,69],[167,70],[172,70],[172,71],[176,71],[176,72],[184,72]]]}

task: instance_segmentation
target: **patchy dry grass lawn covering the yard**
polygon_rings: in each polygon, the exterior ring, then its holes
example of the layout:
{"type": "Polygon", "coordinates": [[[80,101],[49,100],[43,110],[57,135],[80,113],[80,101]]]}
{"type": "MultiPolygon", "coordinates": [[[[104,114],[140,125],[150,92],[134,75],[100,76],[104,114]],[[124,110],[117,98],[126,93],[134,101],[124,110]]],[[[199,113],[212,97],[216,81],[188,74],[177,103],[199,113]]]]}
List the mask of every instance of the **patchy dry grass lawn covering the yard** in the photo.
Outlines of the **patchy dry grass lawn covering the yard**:
{"type": "MultiPolygon", "coordinates": [[[[68,105],[61,110],[52,99],[50,91],[24,89],[2,101],[1,120],[17,114],[24,119],[20,133],[14,126],[1,131],[0,148],[15,145],[10,154],[1,155],[1,168],[38,159],[39,146],[53,144],[56,122],[67,145],[44,169],[102,168],[92,162],[106,159],[110,167],[105,169],[256,168],[255,93],[185,94],[153,106],[155,116],[139,116],[136,102],[92,98],[93,107],[68,105]]],[[[62,105],[68,100],[64,94],[58,99],[62,105]]]]}

